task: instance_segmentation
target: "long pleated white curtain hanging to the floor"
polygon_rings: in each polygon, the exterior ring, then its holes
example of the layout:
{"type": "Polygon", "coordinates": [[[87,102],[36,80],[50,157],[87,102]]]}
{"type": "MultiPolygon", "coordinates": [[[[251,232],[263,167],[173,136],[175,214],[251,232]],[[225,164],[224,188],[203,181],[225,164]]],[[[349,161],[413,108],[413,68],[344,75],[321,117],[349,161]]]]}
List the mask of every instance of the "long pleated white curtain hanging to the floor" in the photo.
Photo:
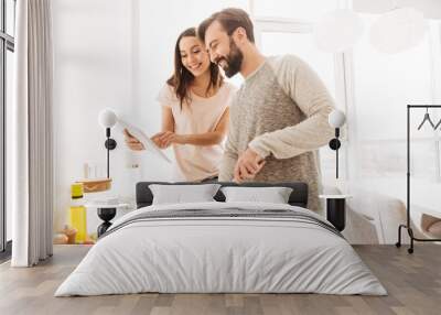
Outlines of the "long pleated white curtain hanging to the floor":
{"type": "Polygon", "coordinates": [[[18,0],[12,109],[13,267],[52,256],[52,21],[50,0],[18,0]]]}

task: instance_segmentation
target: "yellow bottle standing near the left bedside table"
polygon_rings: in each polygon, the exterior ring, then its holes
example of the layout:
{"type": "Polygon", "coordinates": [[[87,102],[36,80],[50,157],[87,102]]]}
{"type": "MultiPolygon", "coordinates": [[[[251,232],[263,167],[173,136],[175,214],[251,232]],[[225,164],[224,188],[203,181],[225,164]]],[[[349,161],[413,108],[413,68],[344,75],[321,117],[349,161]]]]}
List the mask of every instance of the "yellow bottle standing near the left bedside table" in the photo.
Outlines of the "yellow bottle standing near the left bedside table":
{"type": "Polygon", "coordinates": [[[71,225],[77,230],[76,242],[83,243],[87,237],[87,216],[83,199],[83,184],[73,184],[71,186],[71,225]]]}

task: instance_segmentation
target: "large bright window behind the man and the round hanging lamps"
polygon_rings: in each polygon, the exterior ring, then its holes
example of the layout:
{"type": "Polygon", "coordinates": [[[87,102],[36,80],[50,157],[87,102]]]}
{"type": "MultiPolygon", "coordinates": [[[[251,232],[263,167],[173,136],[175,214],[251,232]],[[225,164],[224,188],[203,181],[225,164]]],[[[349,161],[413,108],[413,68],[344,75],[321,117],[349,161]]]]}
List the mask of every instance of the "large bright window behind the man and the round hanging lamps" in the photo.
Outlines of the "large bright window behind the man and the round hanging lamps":
{"type": "MultiPolygon", "coordinates": [[[[376,52],[368,39],[370,24],[378,15],[363,14],[364,37],[354,50],[335,55],[321,53],[311,36],[313,23],[348,3],[254,0],[256,41],[266,55],[291,53],[303,58],[346,112],[348,142],[340,151],[343,178],[400,176],[406,173],[406,105],[441,101],[441,23],[427,20],[427,36],[418,46],[386,55],[376,52]]],[[[411,172],[416,177],[441,182],[441,131],[427,127],[418,131],[423,115],[423,110],[411,111],[411,172]]],[[[430,116],[438,122],[441,110],[431,109],[430,116]]],[[[322,148],[320,153],[323,180],[333,180],[335,152],[322,148]]]]}

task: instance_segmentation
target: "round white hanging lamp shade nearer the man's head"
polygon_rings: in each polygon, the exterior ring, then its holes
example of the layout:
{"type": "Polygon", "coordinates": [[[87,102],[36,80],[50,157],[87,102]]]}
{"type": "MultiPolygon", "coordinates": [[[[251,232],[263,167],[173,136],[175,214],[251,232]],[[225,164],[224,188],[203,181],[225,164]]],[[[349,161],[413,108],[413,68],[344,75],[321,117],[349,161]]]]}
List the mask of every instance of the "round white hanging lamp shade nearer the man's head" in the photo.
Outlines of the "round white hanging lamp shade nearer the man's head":
{"type": "Polygon", "coordinates": [[[340,53],[351,48],[363,35],[363,21],[346,9],[332,11],[314,25],[314,40],[319,50],[340,53]]]}

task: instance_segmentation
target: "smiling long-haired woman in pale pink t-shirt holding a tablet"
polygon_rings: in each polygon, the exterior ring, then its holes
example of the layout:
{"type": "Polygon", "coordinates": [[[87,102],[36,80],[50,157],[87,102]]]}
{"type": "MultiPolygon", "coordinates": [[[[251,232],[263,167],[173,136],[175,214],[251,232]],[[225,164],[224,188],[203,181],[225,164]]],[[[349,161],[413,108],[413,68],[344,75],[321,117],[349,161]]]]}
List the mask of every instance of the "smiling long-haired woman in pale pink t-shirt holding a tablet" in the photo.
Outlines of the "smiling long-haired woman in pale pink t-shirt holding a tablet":
{"type": "MultiPolygon", "coordinates": [[[[174,47],[174,73],[157,98],[162,107],[162,131],[152,137],[161,149],[173,146],[175,180],[217,177],[234,90],[209,61],[196,30],[182,32],[174,47]]],[[[132,150],[144,149],[127,131],[126,142],[132,150]]]]}

